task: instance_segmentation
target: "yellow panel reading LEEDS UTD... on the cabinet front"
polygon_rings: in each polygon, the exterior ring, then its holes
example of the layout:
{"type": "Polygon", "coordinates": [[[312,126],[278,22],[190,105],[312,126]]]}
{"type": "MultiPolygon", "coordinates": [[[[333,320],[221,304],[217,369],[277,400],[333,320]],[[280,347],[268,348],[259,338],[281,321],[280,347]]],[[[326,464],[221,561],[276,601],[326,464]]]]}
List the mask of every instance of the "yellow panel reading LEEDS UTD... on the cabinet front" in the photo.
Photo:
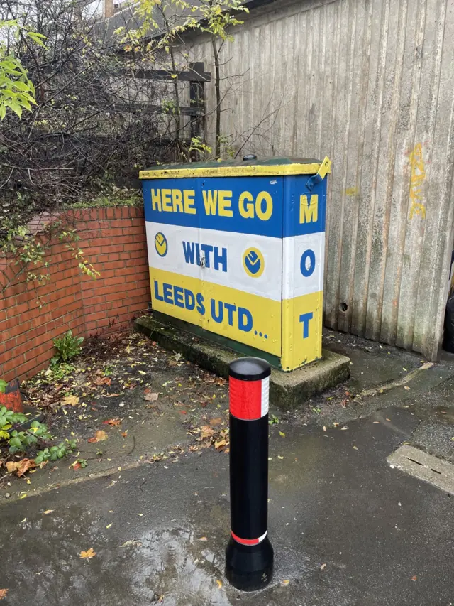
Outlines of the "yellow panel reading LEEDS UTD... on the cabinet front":
{"type": "Polygon", "coordinates": [[[156,311],[280,357],[280,301],[154,267],[150,284],[156,311]]]}

